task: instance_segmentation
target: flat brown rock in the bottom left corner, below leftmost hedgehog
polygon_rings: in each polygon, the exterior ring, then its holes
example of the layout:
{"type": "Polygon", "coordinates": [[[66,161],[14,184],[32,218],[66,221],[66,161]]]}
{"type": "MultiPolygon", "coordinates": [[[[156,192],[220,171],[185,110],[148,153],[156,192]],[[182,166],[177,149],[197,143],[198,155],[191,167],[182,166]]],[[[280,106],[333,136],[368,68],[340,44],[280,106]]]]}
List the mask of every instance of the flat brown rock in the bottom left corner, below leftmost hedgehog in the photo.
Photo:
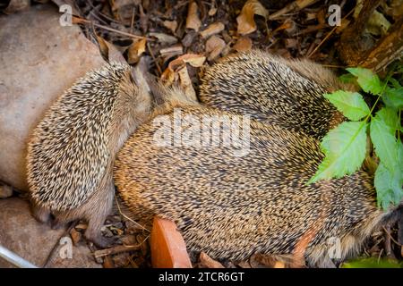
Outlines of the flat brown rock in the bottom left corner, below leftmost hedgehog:
{"type": "MultiPolygon", "coordinates": [[[[0,200],[0,245],[31,264],[42,267],[52,253],[47,267],[100,267],[86,245],[73,246],[65,229],[52,230],[38,223],[30,214],[30,206],[21,198],[0,200]],[[62,238],[62,240],[61,240],[62,238]],[[67,241],[66,245],[65,241],[67,241]],[[52,249],[57,248],[52,252],[52,249]],[[71,248],[70,248],[71,247],[71,248]],[[65,254],[71,253],[71,258],[65,254]]],[[[0,258],[0,268],[13,267],[0,258]]]]}

